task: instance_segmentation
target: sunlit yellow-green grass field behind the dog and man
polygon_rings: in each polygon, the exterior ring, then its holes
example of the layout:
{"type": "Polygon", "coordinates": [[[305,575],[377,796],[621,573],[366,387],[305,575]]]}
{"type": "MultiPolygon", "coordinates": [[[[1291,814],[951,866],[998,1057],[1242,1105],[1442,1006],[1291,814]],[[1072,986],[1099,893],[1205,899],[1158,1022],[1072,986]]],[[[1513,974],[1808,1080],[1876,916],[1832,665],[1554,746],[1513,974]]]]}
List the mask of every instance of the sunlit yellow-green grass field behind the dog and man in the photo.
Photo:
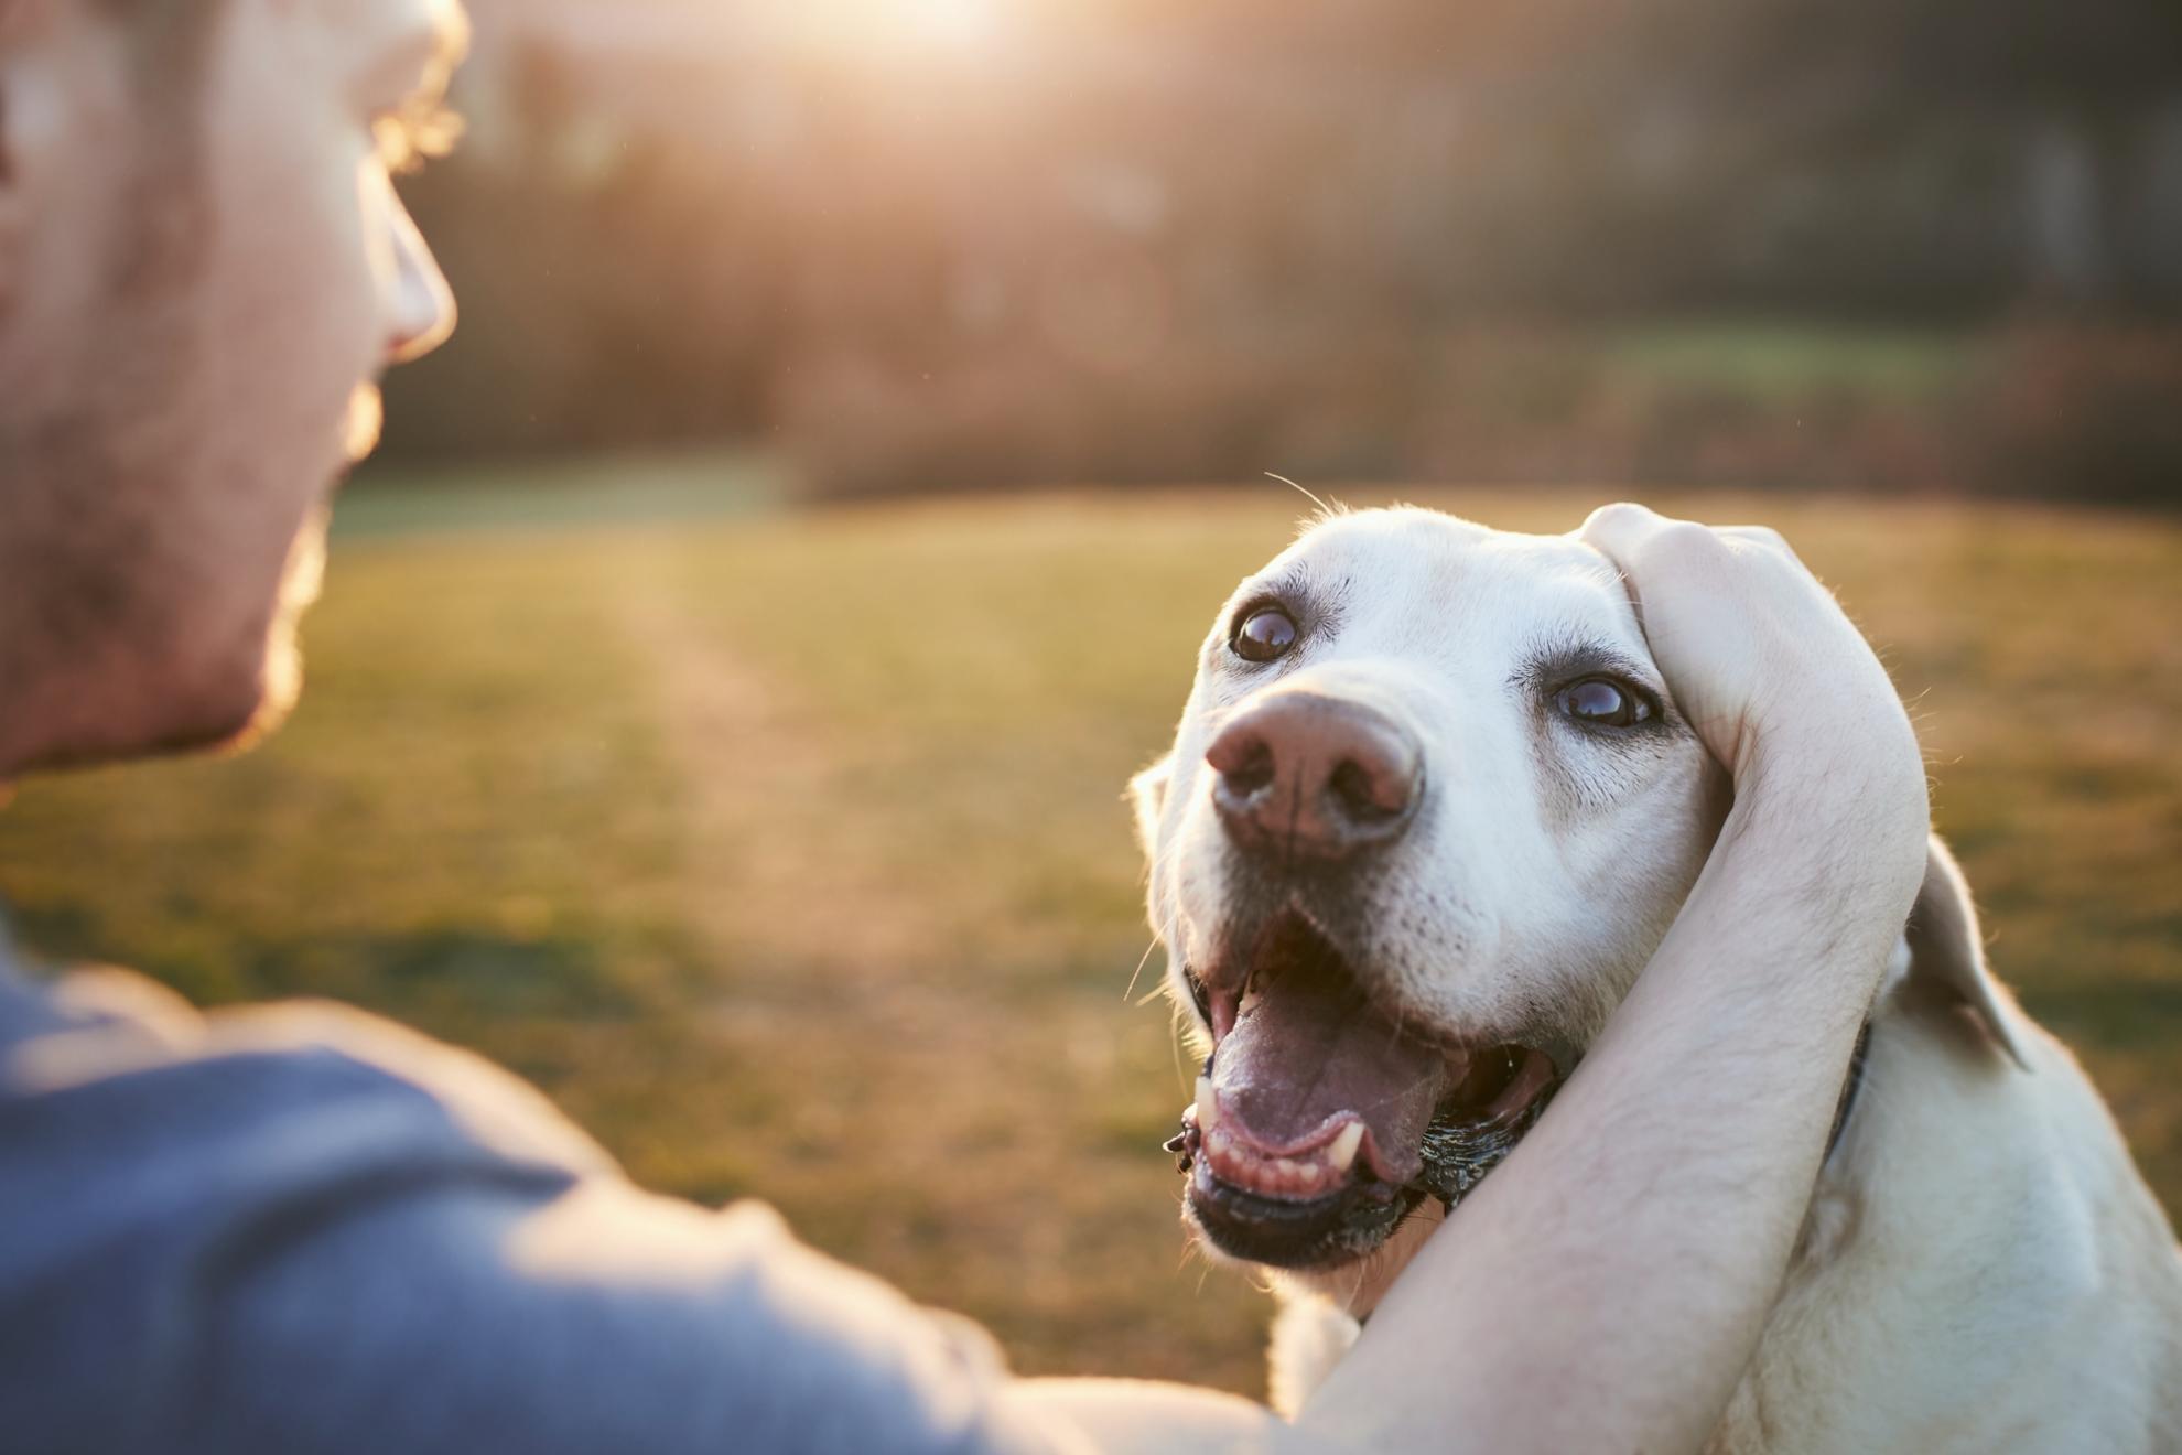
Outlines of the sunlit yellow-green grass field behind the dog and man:
{"type": "MultiPolygon", "coordinates": [[[[521,495],[500,524],[358,495],[279,737],[0,811],[22,934],[480,1047],[639,1180],[766,1195],[1023,1370],[1259,1390],[1263,1298],[1176,1228],[1187,1089],[1165,1008],[1126,995],[1119,792],[1296,497],[646,521],[561,489],[554,530],[521,495]]],[[[1423,495],[1536,530],[1599,497],[1423,495]]],[[[2001,975],[2178,1206],[2182,530],[1661,504],[1778,524],[1885,644],[2001,975]]]]}

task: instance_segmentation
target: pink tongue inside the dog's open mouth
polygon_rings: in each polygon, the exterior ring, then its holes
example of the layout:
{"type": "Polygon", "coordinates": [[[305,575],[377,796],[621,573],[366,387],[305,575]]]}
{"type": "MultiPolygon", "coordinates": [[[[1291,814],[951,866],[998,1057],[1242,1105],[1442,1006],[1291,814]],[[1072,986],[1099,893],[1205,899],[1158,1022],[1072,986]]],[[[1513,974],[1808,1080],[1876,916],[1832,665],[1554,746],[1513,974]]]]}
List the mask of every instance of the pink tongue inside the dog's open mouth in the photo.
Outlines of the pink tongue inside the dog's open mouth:
{"type": "Polygon", "coordinates": [[[1222,1117],[1261,1150],[1285,1152],[1355,1113],[1370,1130],[1372,1169],[1390,1182],[1414,1178],[1447,1054],[1405,1041],[1348,975],[1311,955],[1261,973],[1255,990],[1213,1051],[1222,1117]]]}

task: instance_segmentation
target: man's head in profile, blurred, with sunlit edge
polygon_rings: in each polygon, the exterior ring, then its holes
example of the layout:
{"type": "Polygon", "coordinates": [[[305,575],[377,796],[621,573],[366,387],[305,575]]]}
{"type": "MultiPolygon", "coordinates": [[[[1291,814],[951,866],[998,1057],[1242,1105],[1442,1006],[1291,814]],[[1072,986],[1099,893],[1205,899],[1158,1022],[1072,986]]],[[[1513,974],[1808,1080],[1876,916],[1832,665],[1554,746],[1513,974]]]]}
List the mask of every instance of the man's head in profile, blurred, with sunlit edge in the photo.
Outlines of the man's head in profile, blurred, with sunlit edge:
{"type": "Polygon", "coordinates": [[[388,172],[460,37],[456,0],[0,0],[0,781],[286,707],[375,380],[454,321],[388,172]]]}

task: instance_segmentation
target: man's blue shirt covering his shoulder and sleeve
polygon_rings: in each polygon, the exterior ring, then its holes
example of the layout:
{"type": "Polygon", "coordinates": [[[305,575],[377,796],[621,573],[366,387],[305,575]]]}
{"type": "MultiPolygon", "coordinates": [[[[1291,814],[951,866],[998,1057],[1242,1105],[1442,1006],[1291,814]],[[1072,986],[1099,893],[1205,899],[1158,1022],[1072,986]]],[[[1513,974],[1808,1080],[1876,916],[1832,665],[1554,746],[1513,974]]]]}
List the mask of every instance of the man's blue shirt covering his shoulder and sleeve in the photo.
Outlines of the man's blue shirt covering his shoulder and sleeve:
{"type": "Polygon", "coordinates": [[[1017,1451],[993,1342],[338,1006],[0,940],[7,1451],[1017,1451]]]}

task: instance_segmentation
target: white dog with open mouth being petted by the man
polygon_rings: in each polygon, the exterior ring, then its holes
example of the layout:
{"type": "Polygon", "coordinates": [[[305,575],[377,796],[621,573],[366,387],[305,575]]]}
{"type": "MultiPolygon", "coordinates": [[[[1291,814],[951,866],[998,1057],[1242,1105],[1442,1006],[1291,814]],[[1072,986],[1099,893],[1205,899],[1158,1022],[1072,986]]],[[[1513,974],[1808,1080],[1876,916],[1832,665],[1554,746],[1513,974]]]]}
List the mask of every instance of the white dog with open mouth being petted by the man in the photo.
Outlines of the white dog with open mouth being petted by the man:
{"type": "MultiPolygon", "coordinates": [[[[1329,515],[1235,591],[1132,787],[1209,1049],[1170,1143],[1187,1217],[1283,1270],[1294,1409],[1630,988],[1728,779],[1604,556],[1403,508],[1329,515]]],[[[2182,1451],[2167,1219],[1988,975],[1938,840],[1713,1448],[2182,1451]]]]}

